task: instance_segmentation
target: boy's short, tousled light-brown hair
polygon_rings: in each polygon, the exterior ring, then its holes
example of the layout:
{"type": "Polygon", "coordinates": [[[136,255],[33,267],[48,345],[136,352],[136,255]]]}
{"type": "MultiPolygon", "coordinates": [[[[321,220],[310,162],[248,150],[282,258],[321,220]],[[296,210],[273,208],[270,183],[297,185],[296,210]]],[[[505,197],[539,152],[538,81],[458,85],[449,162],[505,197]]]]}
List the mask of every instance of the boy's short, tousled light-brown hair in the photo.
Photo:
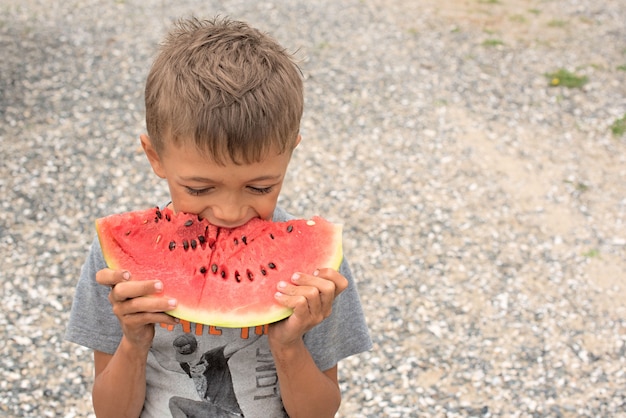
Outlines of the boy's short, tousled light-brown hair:
{"type": "Polygon", "coordinates": [[[298,66],[274,39],[243,22],[181,20],[146,83],[152,146],[194,145],[218,164],[291,152],[303,110],[298,66]]]}

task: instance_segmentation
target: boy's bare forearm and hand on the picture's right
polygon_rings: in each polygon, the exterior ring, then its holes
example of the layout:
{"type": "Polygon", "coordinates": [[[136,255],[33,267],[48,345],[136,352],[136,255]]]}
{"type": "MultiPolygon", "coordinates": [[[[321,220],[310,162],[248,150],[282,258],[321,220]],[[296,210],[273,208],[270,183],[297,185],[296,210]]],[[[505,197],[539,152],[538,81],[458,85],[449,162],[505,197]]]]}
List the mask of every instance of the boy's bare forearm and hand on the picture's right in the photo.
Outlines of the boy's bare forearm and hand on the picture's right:
{"type": "Polygon", "coordinates": [[[270,326],[269,342],[285,410],[292,418],[333,417],[341,403],[337,366],[321,371],[306,348],[304,334],[327,318],[335,297],[348,281],[323,269],[313,276],[297,274],[293,284],[279,284],[276,297],[293,314],[270,326]]]}

